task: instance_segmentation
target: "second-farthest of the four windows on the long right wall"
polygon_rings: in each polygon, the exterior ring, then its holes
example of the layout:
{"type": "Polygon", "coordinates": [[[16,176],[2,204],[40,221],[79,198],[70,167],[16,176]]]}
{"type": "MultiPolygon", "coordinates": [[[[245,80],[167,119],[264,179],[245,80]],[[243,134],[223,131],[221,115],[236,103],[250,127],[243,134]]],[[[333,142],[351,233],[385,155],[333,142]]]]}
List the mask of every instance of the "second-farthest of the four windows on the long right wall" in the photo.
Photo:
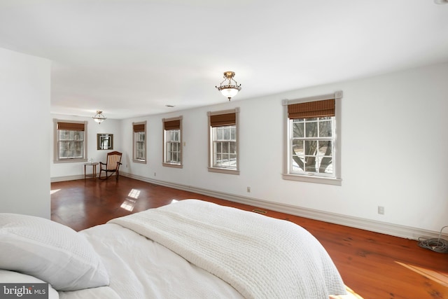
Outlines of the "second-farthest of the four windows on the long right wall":
{"type": "Polygon", "coordinates": [[[182,116],[163,118],[163,165],[182,167],[182,116]]]}

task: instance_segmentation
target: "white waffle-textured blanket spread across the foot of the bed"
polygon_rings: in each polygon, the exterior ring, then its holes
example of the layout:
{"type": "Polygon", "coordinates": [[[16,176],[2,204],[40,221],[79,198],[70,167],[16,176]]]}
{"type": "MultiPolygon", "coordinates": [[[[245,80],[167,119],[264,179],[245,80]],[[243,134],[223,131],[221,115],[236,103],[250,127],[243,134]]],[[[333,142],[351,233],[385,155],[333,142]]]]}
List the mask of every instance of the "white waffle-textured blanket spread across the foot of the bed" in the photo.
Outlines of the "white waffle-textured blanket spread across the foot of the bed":
{"type": "MultiPolygon", "coordinates": [[[[122,225],[162,244],[193,265],[227,281],[244,298],[327,299],[330,294],[345,293],[339,272],[323,246],[309,232],[288,221],[200,200],[182,200],[109,223],[122,225]]],[[[90,241],[94,242],[92,238],[90,241]]],[[[108,262],[105,264],[108,267],[108,262]]],[[[138,275],[132,278],[140,281],[138,275]]],[[[186,281],[188,278],[185,277],[186,281]]],[[[166,284],[170,277],[158,279],[166,284]]],[[[188,280],[186,284],[191,286],[195,282],[188,280]]],[[[116,282],[111,274],[112,288],[113,284],[116,282]]],[[[169,283],[162,287],[169,287],[169,283]]],[[[120,295],[119,289],[115,291],[120,295]]],[[[176,289],[179,298],[188,298],[182,295],[183,291],[176,289]]],[[[221,298],[237,296],[228,295],[221,298]]],[[[123,298],[141,297],[125,295],[123,298]]]]}

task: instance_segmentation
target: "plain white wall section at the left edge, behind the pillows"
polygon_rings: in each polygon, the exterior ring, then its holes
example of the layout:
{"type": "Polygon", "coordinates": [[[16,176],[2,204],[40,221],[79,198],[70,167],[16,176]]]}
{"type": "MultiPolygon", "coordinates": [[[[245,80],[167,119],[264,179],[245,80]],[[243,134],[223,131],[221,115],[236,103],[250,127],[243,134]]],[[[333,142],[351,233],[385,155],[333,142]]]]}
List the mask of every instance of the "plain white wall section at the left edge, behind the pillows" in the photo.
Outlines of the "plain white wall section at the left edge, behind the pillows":
{"type": "Polygon", "coordinates": [[[50,218],[50,61],[0,48],[0,211],[50,218]]]}

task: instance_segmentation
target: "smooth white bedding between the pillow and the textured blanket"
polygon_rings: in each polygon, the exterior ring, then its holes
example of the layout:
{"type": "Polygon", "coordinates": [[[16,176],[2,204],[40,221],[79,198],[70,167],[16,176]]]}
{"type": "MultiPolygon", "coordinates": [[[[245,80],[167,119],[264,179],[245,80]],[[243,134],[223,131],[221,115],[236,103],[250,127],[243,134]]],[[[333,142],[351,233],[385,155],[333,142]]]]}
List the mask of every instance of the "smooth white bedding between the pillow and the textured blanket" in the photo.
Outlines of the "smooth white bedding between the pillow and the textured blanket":
{"type": "Polygon", "coordinates": [[[225,281],[121,225],[107,223],[80,233],[101,256],[110,285],[59,292],[60,299],[243,298],[225,281]]]}

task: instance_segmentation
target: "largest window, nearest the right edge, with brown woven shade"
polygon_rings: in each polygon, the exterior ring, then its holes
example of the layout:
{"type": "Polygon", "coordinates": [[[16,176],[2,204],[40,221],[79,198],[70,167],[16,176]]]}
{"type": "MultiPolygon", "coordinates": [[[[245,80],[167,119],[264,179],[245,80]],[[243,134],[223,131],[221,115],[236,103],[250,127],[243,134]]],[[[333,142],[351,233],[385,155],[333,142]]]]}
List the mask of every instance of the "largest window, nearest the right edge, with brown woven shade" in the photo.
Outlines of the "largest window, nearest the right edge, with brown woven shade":
{"type": "Polygon", "coordinates": [[[283,179],[340,185],[339,114],[342,92],[286,106],[287,151],[283,179]]]}

